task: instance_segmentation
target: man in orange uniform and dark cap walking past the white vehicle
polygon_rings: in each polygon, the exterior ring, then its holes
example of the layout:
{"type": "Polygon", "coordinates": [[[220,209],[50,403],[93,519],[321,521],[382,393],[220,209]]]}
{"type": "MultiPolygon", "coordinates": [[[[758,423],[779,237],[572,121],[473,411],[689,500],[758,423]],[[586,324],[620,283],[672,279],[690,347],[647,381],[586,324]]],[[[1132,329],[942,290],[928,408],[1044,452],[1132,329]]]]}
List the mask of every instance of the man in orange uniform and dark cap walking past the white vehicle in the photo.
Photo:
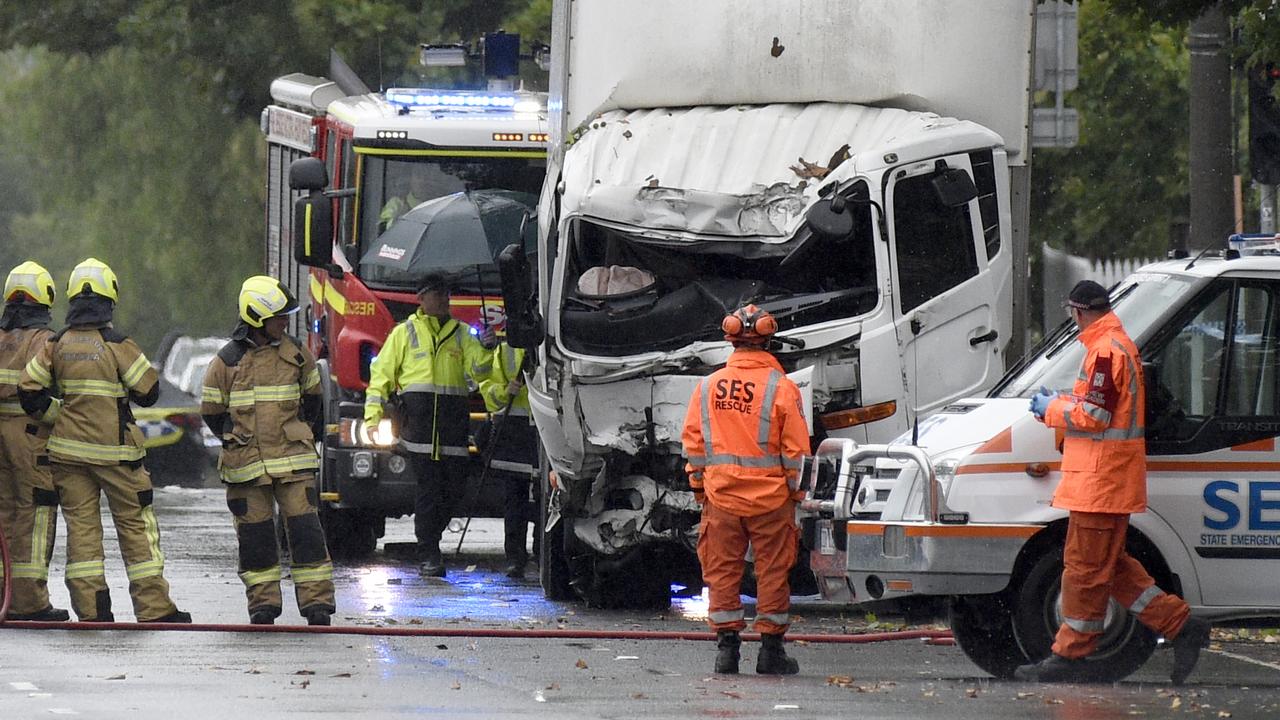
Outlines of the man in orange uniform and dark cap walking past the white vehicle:
{"type": "Polygon", "coordinates": [[[1102,286],[1076,283],[1066,306],[1085,347],[1080,375],[1070,395],[1041,388],[1030,404],[1036,418],[1064,434],[1062,480],[1053,493],[1053,507],[1070,511],[1062,552],[1062,625],[1052,653],[1018,667],[1015,675],[1037,682],[1080,678],[1114,597],[1171,641],[1170,675],[1174,684],[1181,684],[1208,644],[1210,625],[1190,618],[1187,602],[1157,588],[1142,564],[1125,552],[1129,515],[1147,509],[1142,357],[1111,313],[1102,286]]]}

